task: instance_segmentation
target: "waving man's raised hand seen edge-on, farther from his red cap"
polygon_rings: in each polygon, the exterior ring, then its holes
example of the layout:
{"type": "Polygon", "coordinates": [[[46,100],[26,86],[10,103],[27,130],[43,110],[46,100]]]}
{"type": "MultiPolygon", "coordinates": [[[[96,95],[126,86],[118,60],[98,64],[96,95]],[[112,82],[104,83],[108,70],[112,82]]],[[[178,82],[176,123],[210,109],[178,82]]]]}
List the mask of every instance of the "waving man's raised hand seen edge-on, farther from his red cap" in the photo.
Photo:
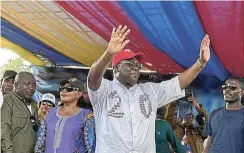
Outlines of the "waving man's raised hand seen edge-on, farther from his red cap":
{"type": "Polygon", "coordinates": [[[201,47],[200,47],[200,59],[201,61],[206,64],[210,59],[210,39],[209,36],[206,34],[202,40],[201,47]]]}

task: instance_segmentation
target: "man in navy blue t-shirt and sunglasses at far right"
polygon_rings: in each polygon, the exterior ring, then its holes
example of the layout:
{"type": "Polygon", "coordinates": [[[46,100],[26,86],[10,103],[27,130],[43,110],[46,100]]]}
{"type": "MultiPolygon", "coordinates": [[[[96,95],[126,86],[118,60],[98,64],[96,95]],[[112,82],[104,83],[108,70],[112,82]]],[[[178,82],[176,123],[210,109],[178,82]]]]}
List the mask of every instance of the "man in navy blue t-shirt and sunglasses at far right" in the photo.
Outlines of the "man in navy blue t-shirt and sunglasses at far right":
{"type": "Polygon", "coordinates": [[[225,107],[214,110],[207,125],[203,153],[244,152],[244,108],[241,97],[244,83],[240,77],[229,77],[222,86],[225,107]]]}

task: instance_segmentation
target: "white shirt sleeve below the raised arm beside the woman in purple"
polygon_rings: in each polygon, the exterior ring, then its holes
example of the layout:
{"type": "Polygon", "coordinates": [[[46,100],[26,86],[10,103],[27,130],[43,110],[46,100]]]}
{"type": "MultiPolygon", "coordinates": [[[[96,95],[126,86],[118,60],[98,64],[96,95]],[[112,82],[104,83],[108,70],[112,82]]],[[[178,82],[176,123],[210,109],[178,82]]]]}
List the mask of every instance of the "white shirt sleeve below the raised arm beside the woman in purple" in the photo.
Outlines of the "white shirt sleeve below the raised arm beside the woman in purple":
{"type": "Polygon", "coordinates": [[[109,83],[109,80],[102,78],[101,85],[96,91],[91,90],[87,83],[88,96],[93,107],[96,107],[99,103],[105,101],[105,95],[107,93],[109,83]]]}

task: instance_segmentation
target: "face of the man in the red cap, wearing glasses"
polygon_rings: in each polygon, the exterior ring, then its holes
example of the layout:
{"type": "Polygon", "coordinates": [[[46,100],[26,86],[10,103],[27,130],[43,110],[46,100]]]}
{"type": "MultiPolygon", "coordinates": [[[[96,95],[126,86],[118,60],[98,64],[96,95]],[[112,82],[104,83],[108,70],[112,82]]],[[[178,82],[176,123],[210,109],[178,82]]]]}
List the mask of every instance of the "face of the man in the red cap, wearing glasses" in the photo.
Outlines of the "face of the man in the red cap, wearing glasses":
{"type": "Polygon", "coordinates": [[[123,60],[117,65],[117,77],[122,83],[133,86],[137,83],[140,76],[142,65],[136,58],[123,60]]]}

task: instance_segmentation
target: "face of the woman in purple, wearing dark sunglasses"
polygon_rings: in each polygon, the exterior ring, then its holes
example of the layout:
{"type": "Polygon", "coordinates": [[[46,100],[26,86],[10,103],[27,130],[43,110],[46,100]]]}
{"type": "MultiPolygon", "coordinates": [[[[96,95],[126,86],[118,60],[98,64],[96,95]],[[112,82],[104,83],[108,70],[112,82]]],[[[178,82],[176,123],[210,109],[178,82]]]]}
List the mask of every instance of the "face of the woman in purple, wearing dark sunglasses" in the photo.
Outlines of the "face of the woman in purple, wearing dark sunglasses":
{"type": "Polygon", "coordinates": [[[78,91],[78,88],[72,87],[70,83],[66,83],[60,87],[60,99],[62,103],[77,103],[81,96],[82,92],[78,91]]]}

